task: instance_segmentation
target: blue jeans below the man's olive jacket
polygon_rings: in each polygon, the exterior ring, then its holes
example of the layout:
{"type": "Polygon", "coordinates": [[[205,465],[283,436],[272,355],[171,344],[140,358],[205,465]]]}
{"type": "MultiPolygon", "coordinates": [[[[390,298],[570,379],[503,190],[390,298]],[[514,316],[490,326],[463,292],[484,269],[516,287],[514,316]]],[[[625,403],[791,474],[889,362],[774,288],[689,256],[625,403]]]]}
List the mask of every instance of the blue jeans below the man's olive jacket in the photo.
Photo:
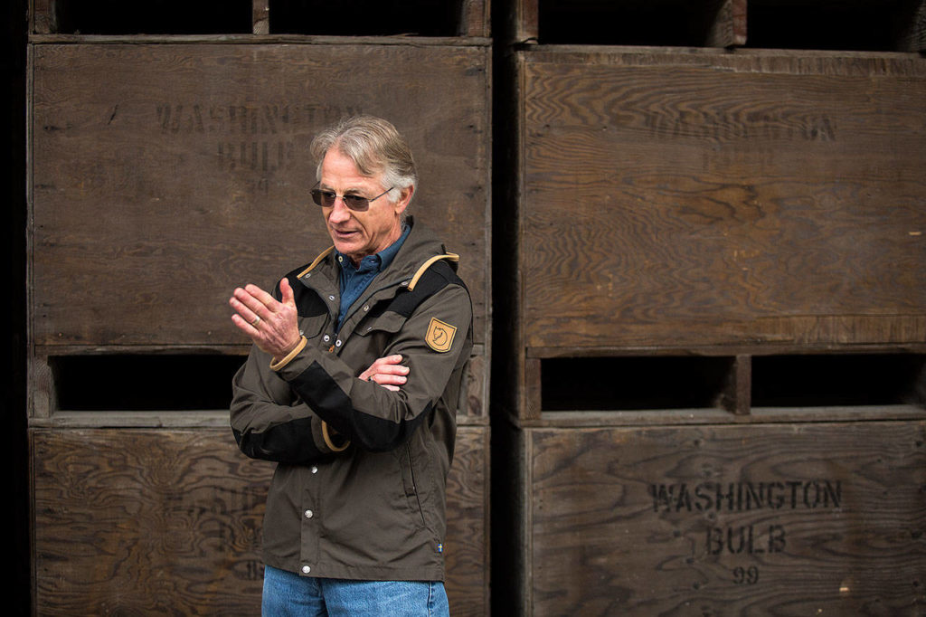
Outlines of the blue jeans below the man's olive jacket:
{"type": "Polygon", "coordinates": [[[263,617],[448,617],[440,581],[310,578],[264,567],[263,617]]]}

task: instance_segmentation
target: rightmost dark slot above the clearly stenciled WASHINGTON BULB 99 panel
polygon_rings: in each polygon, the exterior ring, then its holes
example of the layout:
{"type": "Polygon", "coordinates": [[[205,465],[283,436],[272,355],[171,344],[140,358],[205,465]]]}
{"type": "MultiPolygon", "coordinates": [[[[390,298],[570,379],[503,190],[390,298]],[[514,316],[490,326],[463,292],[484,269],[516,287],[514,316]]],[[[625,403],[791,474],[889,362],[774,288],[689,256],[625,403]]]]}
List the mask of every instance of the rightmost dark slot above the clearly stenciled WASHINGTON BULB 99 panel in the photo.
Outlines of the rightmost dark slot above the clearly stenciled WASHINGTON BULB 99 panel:
{"type": "Polygon", "coordinates": [[[926,355],[756,356],[752,406],[923,405],[926,355]]]}

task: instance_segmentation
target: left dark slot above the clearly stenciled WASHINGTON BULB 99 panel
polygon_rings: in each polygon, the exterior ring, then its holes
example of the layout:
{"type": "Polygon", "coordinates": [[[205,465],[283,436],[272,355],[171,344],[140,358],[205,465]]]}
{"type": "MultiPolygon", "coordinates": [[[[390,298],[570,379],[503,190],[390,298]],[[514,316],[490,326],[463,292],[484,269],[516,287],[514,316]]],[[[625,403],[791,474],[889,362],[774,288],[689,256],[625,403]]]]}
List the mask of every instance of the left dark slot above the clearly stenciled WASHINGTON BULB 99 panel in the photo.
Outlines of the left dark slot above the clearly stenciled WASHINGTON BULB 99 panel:
{"type": "Polygon", "coordinates": [[[541,409],[716,408],[733,361],[726,357],[543,359],[541,409]]]}

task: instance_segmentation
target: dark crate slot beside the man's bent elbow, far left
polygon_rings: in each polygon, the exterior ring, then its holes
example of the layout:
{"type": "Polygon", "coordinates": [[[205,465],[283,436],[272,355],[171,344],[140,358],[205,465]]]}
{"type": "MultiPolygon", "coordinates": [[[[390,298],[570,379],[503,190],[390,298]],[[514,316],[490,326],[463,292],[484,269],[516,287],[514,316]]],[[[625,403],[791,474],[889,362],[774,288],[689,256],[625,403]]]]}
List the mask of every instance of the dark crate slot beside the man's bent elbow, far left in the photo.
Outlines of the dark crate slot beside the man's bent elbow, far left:
{"type": "Polygon", "coordinates": [[[244,357],[219,354],[53,356],[59,411],[228,409],[244,357]]]}

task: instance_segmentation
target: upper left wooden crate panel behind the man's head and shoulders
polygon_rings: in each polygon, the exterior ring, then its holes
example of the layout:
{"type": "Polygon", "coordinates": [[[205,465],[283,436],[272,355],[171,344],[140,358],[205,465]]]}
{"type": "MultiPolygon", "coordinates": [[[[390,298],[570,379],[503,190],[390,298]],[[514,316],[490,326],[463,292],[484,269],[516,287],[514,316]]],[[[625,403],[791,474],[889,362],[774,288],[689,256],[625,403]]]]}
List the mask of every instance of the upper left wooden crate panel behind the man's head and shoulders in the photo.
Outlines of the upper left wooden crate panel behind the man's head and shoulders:
{"type": "Polygon", "coordinates": [[[393,120],[411,207],[488,297],[487,44],[35,44],[32,342],[244,342],[227,300],[331,245],[307,146],[348,113],[393,120]]]}

